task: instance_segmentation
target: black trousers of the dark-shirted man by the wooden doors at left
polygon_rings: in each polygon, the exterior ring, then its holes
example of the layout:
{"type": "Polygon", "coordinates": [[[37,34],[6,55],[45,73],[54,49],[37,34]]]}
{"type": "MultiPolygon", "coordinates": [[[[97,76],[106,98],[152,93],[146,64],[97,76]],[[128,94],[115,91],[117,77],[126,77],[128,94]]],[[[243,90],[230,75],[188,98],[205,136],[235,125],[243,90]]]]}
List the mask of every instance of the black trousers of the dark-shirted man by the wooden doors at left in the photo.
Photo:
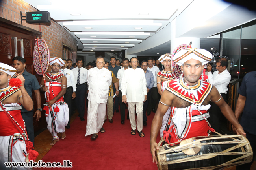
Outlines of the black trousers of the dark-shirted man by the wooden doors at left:
{"type": "Polygon", "coordinates": [[[34,134],[34,124],[33,124],[33,114],[34,111],[29,111],[29,112],[21,112],[22,119],[26,123],[26,130],[27,130],[27,135],[28,139],[33,142],[35,141],[35,134],[34,134]]]}

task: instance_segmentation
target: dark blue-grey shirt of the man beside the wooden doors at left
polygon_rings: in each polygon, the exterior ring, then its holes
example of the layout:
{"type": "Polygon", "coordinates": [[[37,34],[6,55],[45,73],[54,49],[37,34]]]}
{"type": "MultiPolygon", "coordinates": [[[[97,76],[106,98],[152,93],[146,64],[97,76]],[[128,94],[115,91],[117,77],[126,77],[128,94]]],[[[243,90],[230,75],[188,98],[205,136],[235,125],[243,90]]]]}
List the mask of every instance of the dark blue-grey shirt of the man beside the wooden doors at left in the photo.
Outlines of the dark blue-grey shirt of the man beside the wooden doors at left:
{"type": "MultiPolygon", "coordinates": [[[[34,75],[28,73],[28,71],[24,70],[22,75],[25,79],[24,87],[25,87],[26,91],[28,92],[28,95],[32,99],[32,90],[40,89],[40,85],[37,81],[37,78],[34,75]]],[[[21,112],[28,112],[28,110],[26,110],[22,105],[21,105],[21,107],[22,107],[21,112]]],[[[34,110],[34,108],[33,108],[33,110],[34,110]]]]}

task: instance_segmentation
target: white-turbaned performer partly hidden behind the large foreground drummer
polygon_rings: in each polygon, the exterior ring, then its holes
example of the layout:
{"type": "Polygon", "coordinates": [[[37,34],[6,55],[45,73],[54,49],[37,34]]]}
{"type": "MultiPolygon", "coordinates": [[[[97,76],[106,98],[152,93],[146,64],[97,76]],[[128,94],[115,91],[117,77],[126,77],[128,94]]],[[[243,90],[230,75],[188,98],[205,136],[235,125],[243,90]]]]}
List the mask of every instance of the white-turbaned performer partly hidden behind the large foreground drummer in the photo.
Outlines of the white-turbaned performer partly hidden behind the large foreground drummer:
{"type": "MultiPolygon", "coordinates": [[[[158,59],[159,62],[162,63],[164,66],[164,69],[162,71],[159,71],[157,73],[156,77],[156,85],[158,89],[158,93],[162,95],[163,91],[165,90],[165,83],[168,82],[169,80],[175,79],[173,75],[173,71],[171,70],[171,54],[164,54],[161,55],[160,58],[158,59]]],[[[163,122],[162,122],[162,127],[160,129],[160,137],[163,137],[163,131],[167,130],[167,123],[169,120],[169,116],[171,113],[171,107],[168,108],[167,112],[163,116],[163,122]]]]}

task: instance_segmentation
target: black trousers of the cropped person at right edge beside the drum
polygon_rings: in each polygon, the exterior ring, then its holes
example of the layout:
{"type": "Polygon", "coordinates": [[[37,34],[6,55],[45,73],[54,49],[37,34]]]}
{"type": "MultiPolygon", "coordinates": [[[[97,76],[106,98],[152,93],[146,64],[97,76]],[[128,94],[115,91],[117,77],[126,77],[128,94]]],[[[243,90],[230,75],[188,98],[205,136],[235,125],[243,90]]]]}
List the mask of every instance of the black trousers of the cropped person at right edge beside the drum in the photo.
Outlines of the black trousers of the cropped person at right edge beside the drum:
{"type": "Polygon", "coordinates": [[[250,170],[250,166],[252,165],[256,156],[256,135],[249,134],[249,132],[247,131],[245,131],[245,133],[246,133],[246,138],[250,142],[250,146],[252,146],[253,159],[252,159],[252,162],[250,163],[236,166],[236,170],[250,170]]]}

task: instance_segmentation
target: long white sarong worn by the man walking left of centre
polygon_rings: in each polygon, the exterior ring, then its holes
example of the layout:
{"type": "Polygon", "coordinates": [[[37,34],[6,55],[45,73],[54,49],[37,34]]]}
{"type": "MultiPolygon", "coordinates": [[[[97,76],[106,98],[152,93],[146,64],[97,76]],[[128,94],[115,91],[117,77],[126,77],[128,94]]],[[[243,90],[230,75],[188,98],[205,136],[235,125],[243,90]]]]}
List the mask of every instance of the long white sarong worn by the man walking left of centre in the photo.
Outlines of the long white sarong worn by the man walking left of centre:
{"type": "Polygon", "coordinates": [[[88,102],[85,136],[100,132],[106,116],[106,103],[88,102]]]}

